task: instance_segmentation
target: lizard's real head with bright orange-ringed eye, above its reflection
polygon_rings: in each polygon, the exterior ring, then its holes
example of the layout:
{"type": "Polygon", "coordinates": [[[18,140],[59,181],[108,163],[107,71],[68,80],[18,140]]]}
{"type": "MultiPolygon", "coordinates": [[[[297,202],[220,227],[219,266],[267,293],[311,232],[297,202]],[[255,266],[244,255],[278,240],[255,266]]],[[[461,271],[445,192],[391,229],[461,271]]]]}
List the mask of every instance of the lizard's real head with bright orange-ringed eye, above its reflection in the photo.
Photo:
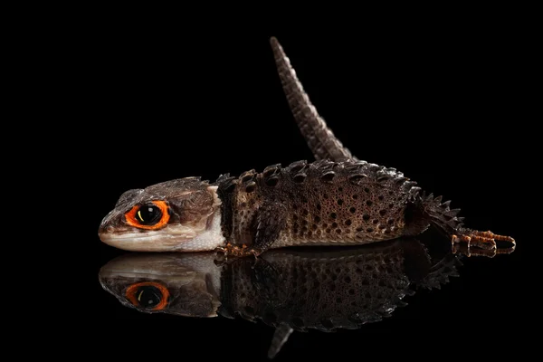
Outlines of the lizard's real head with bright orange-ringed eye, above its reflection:
{"type": "Polygon", "coordinates": [[[196,177],[129,190],[100,224],[100,239],[134,252],[213,250],[220,204],[216,186],[196,177]]]}

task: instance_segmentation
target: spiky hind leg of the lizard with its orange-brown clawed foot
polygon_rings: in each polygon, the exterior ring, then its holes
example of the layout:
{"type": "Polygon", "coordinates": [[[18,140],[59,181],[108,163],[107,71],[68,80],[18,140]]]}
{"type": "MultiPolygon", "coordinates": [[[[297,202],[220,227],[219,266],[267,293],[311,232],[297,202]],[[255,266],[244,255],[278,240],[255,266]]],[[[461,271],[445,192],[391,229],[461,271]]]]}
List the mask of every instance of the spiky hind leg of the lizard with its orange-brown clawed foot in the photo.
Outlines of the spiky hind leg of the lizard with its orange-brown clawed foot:
{"type": "Polygon", "coordinates": [[[499,241],[511,243],[512,248],[507,250],[511,252],[514,250],[515,239],[490,231],[481,232],[463,227],[463,217],[457,217],[460,209],[451,209],[451,201],[444,203],[441,201],[442,196],[433,198],[433,194],[422,195],[421,207],[430,224],[450,237],[453,245],[467,243],[468,248],[476,246],[484,250],[495,250],[497,248],[496,242],[499,241]]]}

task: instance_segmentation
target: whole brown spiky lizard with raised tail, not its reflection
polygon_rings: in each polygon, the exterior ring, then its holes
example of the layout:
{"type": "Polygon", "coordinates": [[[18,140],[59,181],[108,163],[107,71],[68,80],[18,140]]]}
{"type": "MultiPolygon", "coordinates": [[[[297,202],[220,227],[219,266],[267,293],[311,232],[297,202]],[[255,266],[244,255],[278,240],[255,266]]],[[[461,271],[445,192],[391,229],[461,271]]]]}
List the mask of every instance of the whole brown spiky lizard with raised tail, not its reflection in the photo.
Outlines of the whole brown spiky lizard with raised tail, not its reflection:
{"type": "Polygon", "coordinates": [[[136,252],[218,251],[258,257],[295,245],[358,245],[415,236],[433,227],[452,245],[496,249],[510,236],[464,227],[459,209],[395,168],[353,156],[336,138],[275,37],[271,50],[293,118],[315,160],[169,180],[120,195],[103,218],[103,243],[136,252]]]}

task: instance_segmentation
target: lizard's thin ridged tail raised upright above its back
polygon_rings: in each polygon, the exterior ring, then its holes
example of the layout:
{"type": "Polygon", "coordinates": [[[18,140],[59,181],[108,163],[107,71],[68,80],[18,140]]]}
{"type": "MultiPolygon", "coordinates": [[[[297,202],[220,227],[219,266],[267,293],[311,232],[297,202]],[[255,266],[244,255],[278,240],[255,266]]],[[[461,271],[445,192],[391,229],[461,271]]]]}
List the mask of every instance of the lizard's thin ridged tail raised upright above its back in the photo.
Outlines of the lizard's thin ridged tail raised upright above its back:
{"type": "Polygon", "coordinates": [[[281,44],[276,38],[270,40],[273,57],[277,64],[279,78],[292,115],[298,123],[301,134],[306,139],[308,146],[316,159],[328,158],[332,161],[341,161],[353,158],[350,151],[344,148],[341,142],[334,136],[326,125],[319,112],[311,104],[310,98],[303,90],[296,71],[292,69],[289,58],[283,52],[281,44]]]}

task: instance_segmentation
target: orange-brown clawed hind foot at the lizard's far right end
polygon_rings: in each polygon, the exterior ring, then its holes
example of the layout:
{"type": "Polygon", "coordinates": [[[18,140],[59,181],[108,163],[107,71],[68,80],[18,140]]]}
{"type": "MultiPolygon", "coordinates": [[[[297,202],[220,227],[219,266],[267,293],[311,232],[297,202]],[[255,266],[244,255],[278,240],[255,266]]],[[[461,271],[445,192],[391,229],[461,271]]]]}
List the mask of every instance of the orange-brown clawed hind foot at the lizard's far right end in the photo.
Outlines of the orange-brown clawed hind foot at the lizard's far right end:
{"type": "Polygon", "coordinates": [[[452,235],[452,252],[462,252],[467,256],[494,257],[497,254],[509,254],[515,251],[515,239],[510,236],[502,236],[488,232],[464,229],[462,235],[452,235]],[[496,241],[511,243],[509,248],[497,248],[496,241]],[[461,244],[465,244],[462,247],[461,244]],[[478,249],[472,249],[475,246],[478,249]]]}

